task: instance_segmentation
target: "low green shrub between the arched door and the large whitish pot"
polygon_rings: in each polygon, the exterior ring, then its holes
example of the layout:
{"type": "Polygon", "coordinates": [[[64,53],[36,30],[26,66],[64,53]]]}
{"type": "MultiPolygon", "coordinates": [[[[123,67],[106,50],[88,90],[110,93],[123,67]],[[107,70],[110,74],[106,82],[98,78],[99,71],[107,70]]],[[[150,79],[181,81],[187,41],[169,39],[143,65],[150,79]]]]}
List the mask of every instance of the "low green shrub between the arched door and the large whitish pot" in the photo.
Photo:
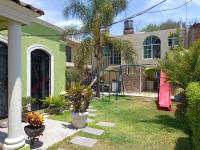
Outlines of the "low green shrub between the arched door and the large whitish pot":
{"type": "Polygon", "coordinates": [[[49,113],[58,113],[65,109],[67,100],[65,99],[65,96],[52,96],[52,97],[46,97],[44,100],[42,100],[43,104],[48,105],[49,108],[47,111],[49,113]]]}

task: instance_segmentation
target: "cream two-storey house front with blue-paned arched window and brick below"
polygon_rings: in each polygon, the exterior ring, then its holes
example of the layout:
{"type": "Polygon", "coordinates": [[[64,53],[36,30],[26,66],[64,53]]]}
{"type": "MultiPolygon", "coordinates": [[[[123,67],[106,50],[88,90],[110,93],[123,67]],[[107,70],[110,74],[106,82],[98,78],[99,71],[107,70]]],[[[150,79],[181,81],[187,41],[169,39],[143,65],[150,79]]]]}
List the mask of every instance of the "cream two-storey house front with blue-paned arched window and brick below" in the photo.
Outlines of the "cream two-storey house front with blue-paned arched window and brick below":
{"type": "Polygon", "coordinates": [[[109,63],[104,68],[103,86],[110,87],[111,92],[156,92],[159,84],[159,73],[155,72],[151,76],[146,76],[144,72],[148,68],[156,67],[158,61],[163,59],[173,46],[178,45],[177,30],[167,29],[137,33],[133,32],[132,27],[125,30],[124,35],[115,38],[128,40],[133,44],[136,52],[135,64],[127,64],[121,54],[111,47],[107,52],[104,52],[106,53],[104,57],[109,58],[109,63]]]}

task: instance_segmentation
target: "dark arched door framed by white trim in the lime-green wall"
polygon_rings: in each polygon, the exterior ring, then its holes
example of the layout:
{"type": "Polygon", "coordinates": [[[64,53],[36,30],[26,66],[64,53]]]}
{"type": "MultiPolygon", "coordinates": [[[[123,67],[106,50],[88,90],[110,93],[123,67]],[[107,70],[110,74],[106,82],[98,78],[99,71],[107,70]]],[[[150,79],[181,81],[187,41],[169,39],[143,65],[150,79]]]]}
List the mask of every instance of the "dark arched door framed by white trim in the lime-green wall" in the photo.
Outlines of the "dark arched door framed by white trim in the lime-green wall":
{"type": "Polygon", "coordinates": [[[41,99],[51,95],[51,56],[41,49],[31,52],[31,97],[37,99],[34,108],[44,106],[41,99]]]}

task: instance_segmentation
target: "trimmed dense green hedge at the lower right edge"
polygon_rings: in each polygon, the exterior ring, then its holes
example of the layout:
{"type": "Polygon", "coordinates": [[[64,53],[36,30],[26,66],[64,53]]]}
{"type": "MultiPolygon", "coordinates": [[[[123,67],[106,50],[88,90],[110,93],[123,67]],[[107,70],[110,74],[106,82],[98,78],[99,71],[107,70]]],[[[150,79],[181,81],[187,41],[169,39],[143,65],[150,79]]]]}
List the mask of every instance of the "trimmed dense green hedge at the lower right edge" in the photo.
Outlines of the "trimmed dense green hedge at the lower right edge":
{"type": "Polygon", "coordinates": [[[200,83],[190,83],[186,89],[187,116],[191,124],[193,149],[200,150],[200,83]]]}

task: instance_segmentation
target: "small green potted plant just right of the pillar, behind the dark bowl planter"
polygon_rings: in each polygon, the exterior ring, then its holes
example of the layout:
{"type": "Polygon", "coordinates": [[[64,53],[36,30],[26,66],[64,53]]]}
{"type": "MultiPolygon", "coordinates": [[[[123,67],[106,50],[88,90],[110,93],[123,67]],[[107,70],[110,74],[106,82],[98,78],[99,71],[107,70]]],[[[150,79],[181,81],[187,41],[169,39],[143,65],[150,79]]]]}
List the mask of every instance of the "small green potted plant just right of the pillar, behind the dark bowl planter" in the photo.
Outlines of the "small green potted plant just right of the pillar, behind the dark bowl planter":
{"type": "Polygon", "coordinates": [[[36,102],[33,97],[23,97],[22,98],[22,121],[26,122],[26,113],[31,111],[31,105],[36,102]]]}

